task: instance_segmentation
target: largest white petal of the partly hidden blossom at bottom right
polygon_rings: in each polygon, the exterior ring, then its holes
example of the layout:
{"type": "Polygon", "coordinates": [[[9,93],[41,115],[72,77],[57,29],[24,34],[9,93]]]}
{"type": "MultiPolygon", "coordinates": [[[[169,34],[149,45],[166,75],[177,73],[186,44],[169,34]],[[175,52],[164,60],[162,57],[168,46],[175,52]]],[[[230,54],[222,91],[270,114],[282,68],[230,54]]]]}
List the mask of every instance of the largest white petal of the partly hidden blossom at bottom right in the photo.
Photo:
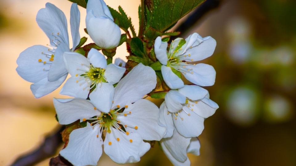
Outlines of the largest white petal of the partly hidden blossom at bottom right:
{"type": "Polygon", "coordinates": [[[187,159],[186,149],[190,144],[191,138],[182,136],[177,130],[174,130],[174,134],[170,138],[162,138],[160,141],[162,148],[166,148],[167,153],[170,153],[179,162],[184,162],[187,159]]]}

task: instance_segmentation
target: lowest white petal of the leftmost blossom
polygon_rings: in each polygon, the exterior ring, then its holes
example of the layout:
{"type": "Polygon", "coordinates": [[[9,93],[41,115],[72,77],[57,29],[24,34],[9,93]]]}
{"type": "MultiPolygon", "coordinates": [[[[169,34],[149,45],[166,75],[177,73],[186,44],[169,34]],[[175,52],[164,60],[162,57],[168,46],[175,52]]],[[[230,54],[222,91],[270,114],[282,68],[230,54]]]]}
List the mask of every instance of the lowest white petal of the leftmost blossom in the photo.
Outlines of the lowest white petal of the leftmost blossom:
{"type": "Polygon", "coordinates": [[[68,74],[60,77],[57,81],[50,82],[47,78],[43,78],[41,81],[36,82],[30,86],[32,93],[36,98],[43,97],[55,89],[59,88],[66,80],[68,74]]]}

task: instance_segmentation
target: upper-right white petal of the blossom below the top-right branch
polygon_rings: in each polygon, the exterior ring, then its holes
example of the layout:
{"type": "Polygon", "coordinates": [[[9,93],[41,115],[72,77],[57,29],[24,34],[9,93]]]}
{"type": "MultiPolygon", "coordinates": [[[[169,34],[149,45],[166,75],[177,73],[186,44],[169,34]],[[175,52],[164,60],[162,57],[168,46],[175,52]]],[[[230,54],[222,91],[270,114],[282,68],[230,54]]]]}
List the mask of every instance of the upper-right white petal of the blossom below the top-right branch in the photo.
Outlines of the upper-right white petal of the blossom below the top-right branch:
{"type": "Polygon", "coordinates": [[[212,37],[206,37],[204,39],[206,40],[197,46],[187,49],[184,54],[190,54],[190,58],[193,59],[193,61],[200,61],[213,55],[216,48],[216,40],[212,37]]]}

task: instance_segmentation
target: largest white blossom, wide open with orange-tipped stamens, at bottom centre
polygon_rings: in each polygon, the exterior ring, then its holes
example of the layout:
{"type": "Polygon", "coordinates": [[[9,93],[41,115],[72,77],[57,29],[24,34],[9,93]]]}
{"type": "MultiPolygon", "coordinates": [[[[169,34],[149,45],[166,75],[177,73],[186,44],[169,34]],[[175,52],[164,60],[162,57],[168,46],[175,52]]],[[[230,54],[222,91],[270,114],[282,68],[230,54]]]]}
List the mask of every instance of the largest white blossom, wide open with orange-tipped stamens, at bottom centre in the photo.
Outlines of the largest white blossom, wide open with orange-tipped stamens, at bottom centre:
{"type": "Polygon", "coordinates": [[[89,100],[54,99],[60,124],[87,121],[86,127],[71,132],[60,154],[76,166],[97,165],[104,144],[105,153],[116,163],[138,162],[150,149],[143,140],[161,140],[166,132],[158,124],[158,107],[141,99],[155,86],[154,70],[140,63],[118,82],[108,113],[89,100]]]}

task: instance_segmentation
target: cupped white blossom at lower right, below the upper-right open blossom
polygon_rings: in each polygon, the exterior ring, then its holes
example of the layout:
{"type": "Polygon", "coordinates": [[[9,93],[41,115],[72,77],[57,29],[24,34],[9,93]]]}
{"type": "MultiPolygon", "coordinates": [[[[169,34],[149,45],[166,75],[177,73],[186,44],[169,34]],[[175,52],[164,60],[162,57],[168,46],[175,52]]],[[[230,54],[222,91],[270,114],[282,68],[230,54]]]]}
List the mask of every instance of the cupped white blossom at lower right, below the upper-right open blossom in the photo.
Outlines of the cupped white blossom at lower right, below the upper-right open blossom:
{"type": "Polygon", "coordinates": [[[174,126],[185,137],[197,137],[204,130],[204,118],[212,116],[219,106],[209,93],[197,85],[170,90],[160,106],[159,122],[167,127],[164,138],[173,135],[174,126]]]}

